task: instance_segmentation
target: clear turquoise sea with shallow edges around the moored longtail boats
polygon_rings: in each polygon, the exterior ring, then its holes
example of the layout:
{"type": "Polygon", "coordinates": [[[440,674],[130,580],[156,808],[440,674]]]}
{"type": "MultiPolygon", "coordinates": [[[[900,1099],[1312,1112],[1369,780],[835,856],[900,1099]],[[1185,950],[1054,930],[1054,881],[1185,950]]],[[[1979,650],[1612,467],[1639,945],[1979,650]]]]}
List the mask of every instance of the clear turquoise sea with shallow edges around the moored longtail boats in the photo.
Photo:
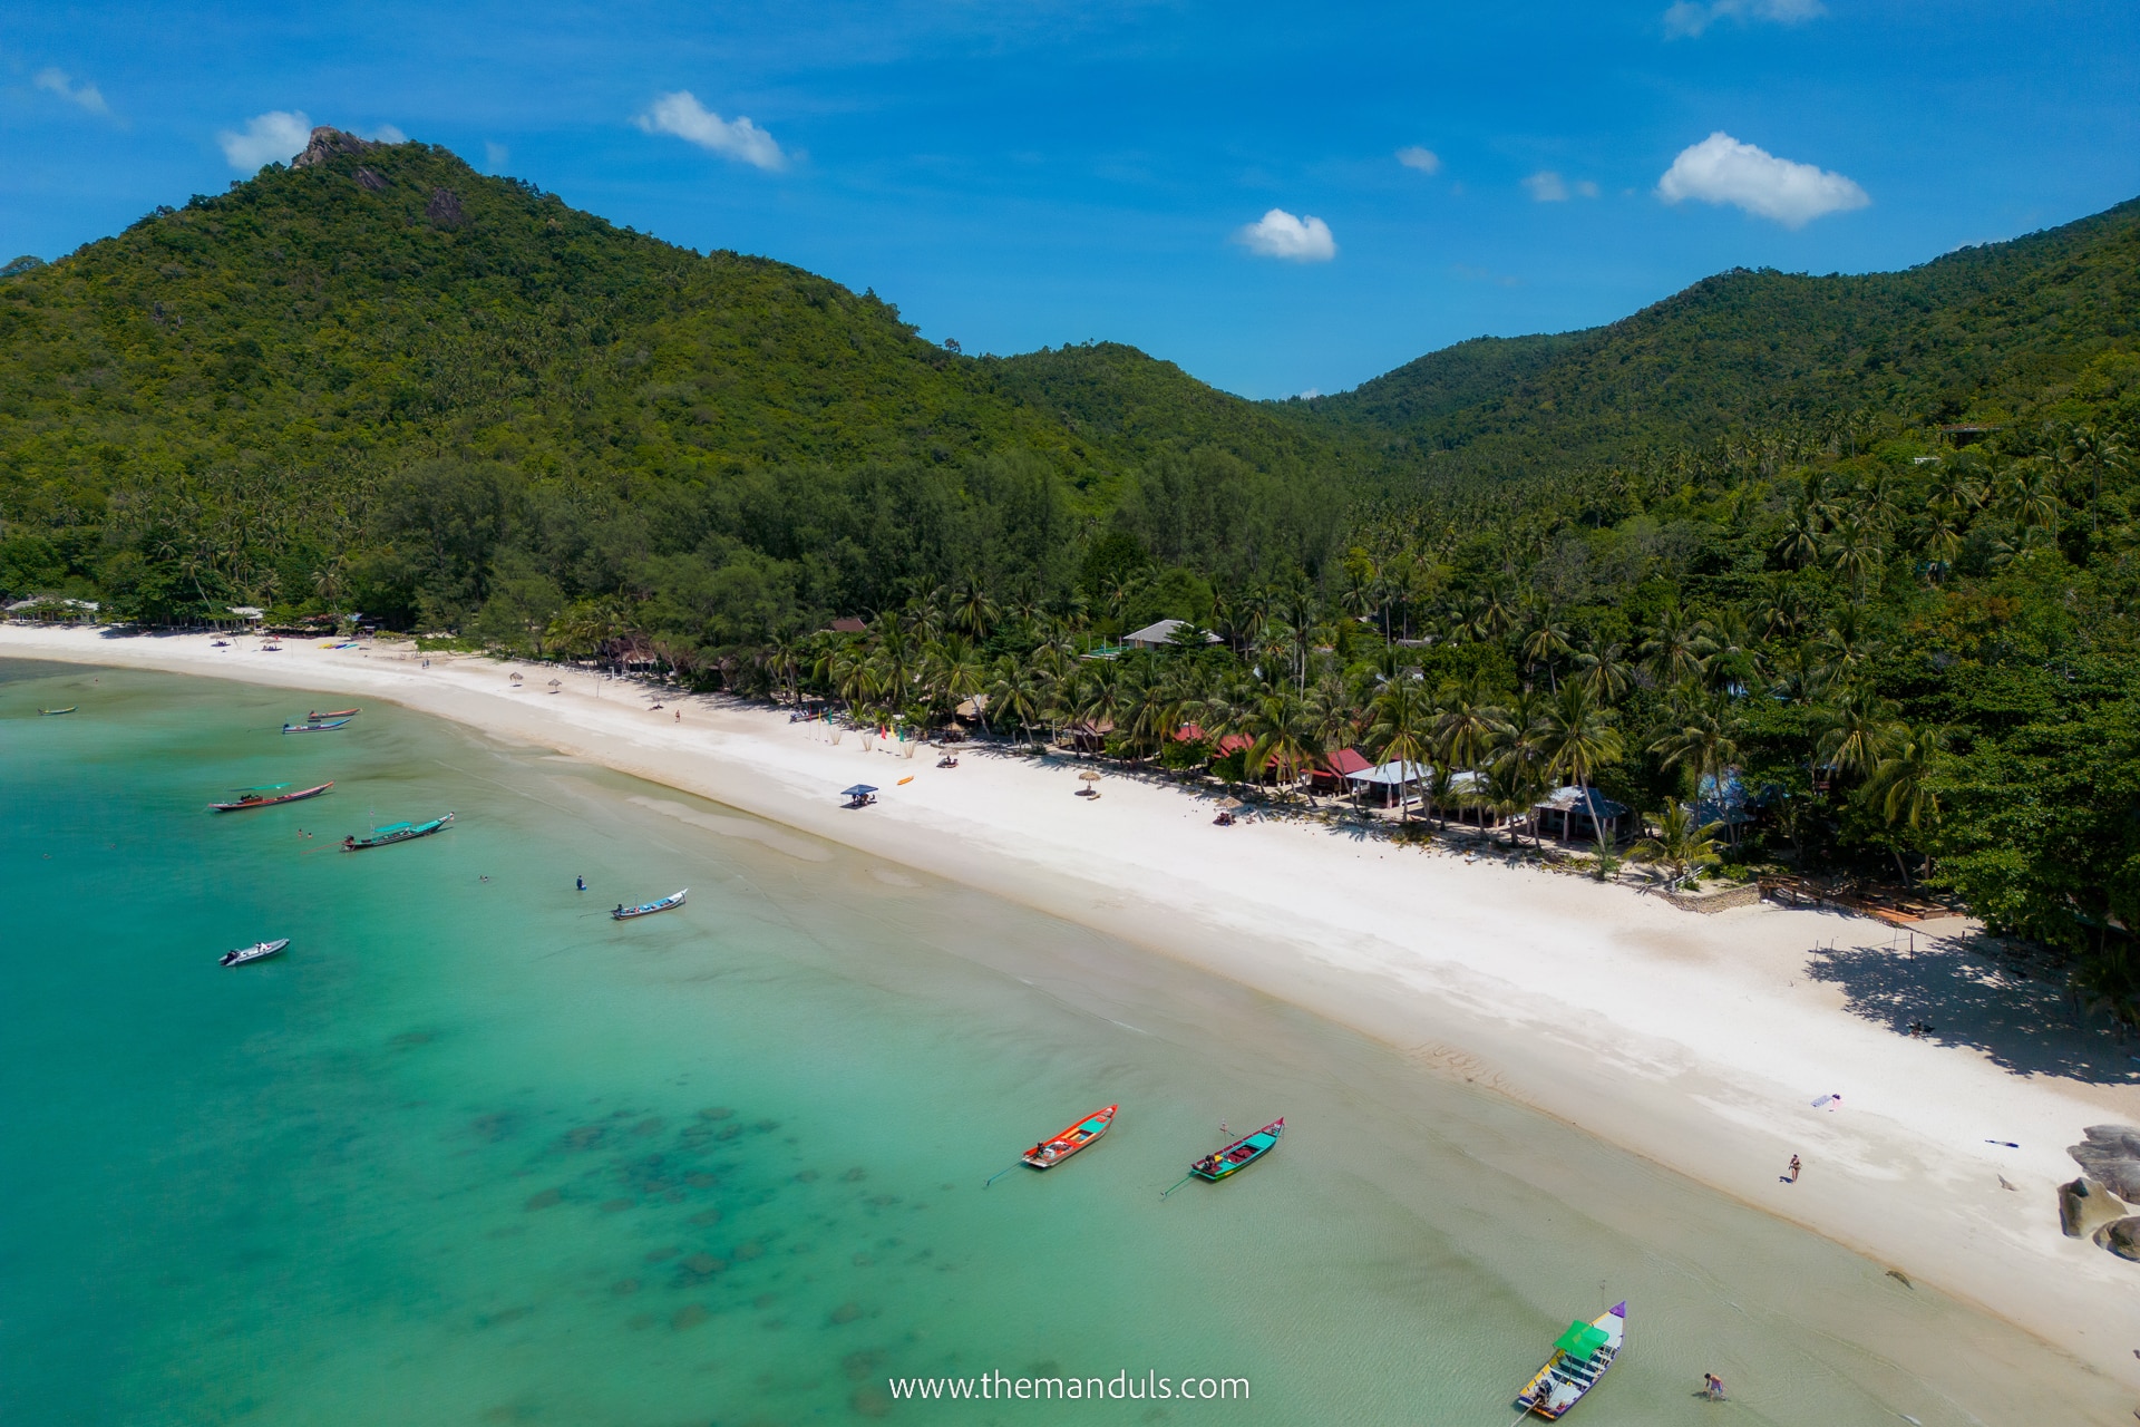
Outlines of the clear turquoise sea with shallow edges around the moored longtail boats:
{"type": "Polygon", "coordinates": [[[1507,1427],[1616,1299],[1594,1427],[2125,1410],[1881,1264],[1228,982],[392,706],[276,734],[312,706],[0,661],[4,1423],[1507,1427]],[[1109,1102],[1098,1147],[982,1187],[1109,1102]],[[1162,1202],[1220,1121],[1278,1115],[1263,1164],[1162,1202]],[[892,1401],[984,1371],[1250,1397],[892,1401]]]}

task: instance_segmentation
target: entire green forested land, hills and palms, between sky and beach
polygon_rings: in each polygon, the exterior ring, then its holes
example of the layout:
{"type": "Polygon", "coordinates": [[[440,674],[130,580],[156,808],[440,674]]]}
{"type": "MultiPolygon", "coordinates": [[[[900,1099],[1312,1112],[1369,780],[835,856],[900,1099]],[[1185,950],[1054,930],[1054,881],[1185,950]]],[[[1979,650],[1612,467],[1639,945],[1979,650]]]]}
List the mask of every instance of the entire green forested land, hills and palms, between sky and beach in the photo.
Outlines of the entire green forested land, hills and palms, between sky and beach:
{"type": "Polygon", "coordinates": [[[987,693],[1239,781],[1357,747],[1438,817],[1575,783],[1658,866],[1928,879],[2140,1027],[2136,285],[2125,203],[1258,404],[321,131],[0,270],[0,595],[987,693]],[[1094,648],[1162,614],[1218,642],[1094,648]]]}

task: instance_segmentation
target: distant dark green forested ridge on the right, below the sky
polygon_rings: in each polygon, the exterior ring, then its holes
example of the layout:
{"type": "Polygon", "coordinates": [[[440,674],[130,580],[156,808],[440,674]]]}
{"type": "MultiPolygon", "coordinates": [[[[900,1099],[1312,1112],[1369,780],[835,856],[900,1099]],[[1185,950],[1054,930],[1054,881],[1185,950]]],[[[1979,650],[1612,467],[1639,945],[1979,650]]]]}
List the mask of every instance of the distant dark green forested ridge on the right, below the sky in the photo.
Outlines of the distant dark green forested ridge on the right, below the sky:
{"type": "Polygon", "coordinates": [[[1635,462],[1744,430],[1821,439],[1872,413],[2031,419],[2140,314],[2140,199],[1909,272],[1725,272],[1607,327],[1479,338],[1299,402],[1444,477],[1635,462]]]}

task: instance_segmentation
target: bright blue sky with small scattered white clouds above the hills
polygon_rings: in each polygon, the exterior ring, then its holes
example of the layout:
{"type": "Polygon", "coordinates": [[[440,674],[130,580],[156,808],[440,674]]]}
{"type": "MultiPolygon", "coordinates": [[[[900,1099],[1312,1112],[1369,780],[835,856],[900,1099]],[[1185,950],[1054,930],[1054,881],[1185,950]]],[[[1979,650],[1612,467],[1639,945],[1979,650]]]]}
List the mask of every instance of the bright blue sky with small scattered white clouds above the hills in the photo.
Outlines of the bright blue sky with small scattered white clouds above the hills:
{"type": "Polygon", "coordinates": [[[2129,0],[0,15],[0,257],[216,193],[302,113],[873,287],[972,353],[1124,340],[1245,396],[2140,193],[2129,0]]]}

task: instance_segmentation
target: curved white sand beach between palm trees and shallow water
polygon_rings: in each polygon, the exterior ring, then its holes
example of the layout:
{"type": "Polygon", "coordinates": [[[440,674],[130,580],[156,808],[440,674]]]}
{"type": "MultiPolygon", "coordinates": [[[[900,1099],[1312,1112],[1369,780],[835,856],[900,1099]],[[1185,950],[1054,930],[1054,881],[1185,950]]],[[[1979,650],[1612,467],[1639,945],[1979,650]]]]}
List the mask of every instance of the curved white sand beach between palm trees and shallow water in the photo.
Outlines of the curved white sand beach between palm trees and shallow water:
{"type": "Polygon", "coordinates": [[[1815,952],[1866,948],[1858,965],[1907,980],[1879,922],[1695,916],[1320,826],[1213,828],[1207,802],[1166,785],[1109,777],[1100,800],[1074,798],[1070,762],[967,755],[937,770],[719,700],[655,715],[648,691],[586,674],[544,693],[556,672],[535,665],[514,687],[514,665],[479,657],[424,668],[394,646],[259,653],[17,625],[0,627],[0,657],[392,700],[1010,896],[1378,1035],[2140,1388],[2140,1267],[2063,1239],[2054,1211],[2076,1172],[2065,1147],[2091,1123],[2140,1123],[2140,1087],[2018,1074],[1847,1012],[1843,988],[1810,976],[1815,952]],[[880,785],[877,807],[837,807],[856,781],[880,785]],[[1834,1091],[1845,1108],[1813,1108],[1834,1091]],[[1791,1153],[1806,1175],[1783,1185],[1791,1153]]]}

